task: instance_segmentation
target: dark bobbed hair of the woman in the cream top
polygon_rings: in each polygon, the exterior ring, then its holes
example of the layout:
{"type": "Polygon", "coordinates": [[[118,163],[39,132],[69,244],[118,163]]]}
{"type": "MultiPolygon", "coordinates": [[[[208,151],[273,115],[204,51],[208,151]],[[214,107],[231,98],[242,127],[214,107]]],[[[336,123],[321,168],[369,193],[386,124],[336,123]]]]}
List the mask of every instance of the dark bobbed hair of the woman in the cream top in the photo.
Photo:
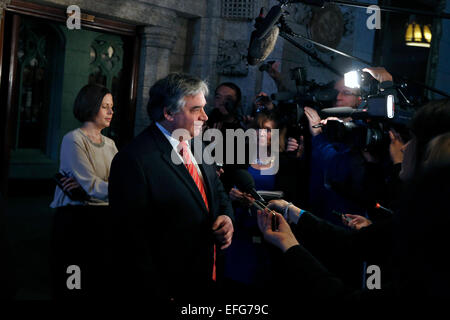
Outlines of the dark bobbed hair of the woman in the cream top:
{"type": "Polygon", "coordinates": [[[108,93],[111,93],[108,88],[99,84],[88,84],[81,88],[73,104],[75,118],[80,122],[92,121],[108,93]]]}

